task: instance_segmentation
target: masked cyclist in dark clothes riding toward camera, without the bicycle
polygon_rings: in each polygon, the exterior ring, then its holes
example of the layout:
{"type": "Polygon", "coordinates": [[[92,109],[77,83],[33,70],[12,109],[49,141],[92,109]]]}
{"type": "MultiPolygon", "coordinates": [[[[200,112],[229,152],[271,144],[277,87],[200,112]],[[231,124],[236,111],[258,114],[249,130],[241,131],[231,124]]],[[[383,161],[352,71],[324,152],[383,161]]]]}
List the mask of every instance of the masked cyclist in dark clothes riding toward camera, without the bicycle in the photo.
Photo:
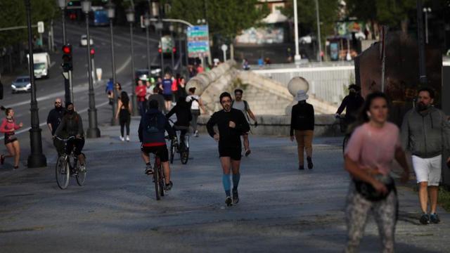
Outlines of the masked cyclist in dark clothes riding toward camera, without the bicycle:
{"type": "Polygon", "coordinates": [[[65,115],[63,116],[63,119],[61,119],[53,138],[55,138],[55,136],[60,137],[62,135],[68,136],[68,138],[75,137],[68,141],[67,150],[65,150],[65,153],[70,154],[75,147],[74,153],[77,155],[79,160],[79,170],[83,172],[86,170],[86,167],[84,166],[84,155],[82,155],[82,150],[84,147],[83,120],[82,117],[75,112],[73,103],[67,103],[65,108],[65,115]]]}

